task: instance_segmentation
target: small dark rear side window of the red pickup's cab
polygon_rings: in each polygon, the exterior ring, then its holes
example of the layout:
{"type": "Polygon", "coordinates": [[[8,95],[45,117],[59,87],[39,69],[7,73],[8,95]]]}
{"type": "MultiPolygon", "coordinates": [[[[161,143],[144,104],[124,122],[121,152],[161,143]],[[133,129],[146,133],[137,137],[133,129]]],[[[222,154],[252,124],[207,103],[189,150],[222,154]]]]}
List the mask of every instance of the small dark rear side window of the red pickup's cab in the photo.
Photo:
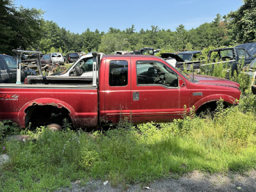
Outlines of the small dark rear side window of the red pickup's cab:
{"type": "Polygon", "coordinates": [[[126,86],[128,84],[128,62],[109,62],[109,86],[126,86]]]}

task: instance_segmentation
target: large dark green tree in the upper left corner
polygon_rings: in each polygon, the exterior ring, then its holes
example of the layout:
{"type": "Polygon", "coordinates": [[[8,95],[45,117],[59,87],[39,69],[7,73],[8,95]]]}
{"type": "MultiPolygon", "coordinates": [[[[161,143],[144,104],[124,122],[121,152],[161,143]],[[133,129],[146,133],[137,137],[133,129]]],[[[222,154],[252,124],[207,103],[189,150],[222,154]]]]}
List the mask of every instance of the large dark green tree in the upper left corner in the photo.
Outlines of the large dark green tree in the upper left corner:
{"type": "Polygon", "coordinates": [[[12,54],[12,49],[36,45],[41,38],[42,10],[15,8],[10,0],[0,0],[0,52],[12,54]]]}

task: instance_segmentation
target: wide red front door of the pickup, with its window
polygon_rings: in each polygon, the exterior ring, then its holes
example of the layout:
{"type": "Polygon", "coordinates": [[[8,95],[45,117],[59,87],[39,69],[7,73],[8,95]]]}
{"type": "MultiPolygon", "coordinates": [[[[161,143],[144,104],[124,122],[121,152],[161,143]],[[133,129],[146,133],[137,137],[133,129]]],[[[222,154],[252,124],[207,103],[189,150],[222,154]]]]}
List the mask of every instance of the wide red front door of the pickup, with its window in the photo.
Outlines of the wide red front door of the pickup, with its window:
{"type": "Polygon", "coordinates": [[[180,118],[189,95],[186,82],[165,63],[132,58],[132,122],[180,118]]]}

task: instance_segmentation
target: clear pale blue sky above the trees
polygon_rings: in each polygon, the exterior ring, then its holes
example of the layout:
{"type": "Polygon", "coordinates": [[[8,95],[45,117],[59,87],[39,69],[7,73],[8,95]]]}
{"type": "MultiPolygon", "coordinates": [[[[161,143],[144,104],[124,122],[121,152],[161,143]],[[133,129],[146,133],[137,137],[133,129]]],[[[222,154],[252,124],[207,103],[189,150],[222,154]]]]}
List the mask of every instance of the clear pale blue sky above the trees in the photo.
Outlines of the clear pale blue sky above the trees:
{"type": "Polygon", "coordinates": [[[236,11],[242,0],[14,0],[15,6],[43,10],[45,20],[53,20],[72,33],[90,31],[108,32],[109,28],[125,30],[132,24],[141,28],[175,29],[183,24],[185,29],[197,28],[212,22],[216,15],[236,11]]]}

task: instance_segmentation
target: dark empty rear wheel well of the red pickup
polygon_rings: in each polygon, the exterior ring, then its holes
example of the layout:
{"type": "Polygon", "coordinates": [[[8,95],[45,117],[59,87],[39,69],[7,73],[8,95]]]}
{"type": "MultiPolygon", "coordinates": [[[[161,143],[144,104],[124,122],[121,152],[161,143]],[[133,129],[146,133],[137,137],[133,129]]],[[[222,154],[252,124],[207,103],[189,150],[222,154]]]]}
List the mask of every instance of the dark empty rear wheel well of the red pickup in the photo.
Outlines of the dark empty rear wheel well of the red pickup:
{"type": "Polygon", "coordinates": [[[69,116],[68,109],[56,106],[44,105],[44,106],[30,106],[25,110],[27,113],[25,118],[25,125],[28,126],[31,122],[33,127],[49,124],[60,124],[63,125],[63,119],[67,118],[69,123],[72,123],[69,116]]]}

